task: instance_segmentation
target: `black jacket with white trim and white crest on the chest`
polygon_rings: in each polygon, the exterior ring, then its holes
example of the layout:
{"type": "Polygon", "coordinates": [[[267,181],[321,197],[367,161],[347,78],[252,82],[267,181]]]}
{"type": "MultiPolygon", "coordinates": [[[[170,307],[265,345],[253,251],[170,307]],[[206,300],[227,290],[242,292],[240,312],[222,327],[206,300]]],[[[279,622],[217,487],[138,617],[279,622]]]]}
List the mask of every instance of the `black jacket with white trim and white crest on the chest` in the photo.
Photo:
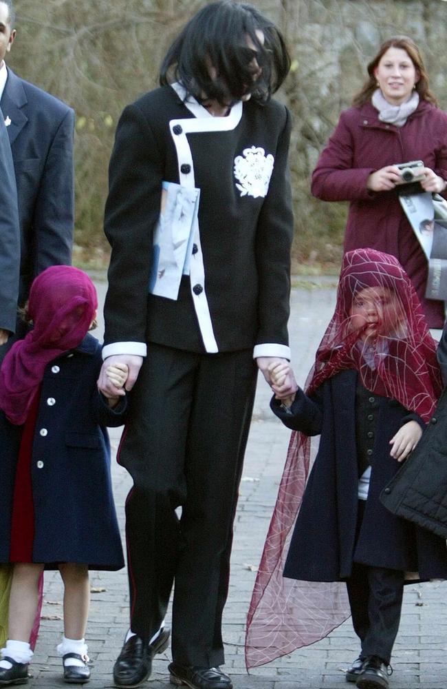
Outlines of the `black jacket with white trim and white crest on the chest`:
{"type": "Polygon", "coordinates": [[[124,110],[105,211],[112,247],[107,345],[147,341],[203,352],[197,313],[205,310],[205,294],[219,351],[288,345],[290,115],[272,99],[264,107],[243,103],[240,121],[234,119],[232,113],[195,119],[170,86],[145,94],[124,110]],[[264,164],[272,161],[265,194],[251,194],[249,187],[237,184],[236,163],[252,152],[264,164]],[[193,175],[200,189],[200,243],[193,247],[191,279],[183,278],[177,301],[148,295],[162,181],[185,185],[193,175]],[[196,284],[193,267],[199,262],[203,275],[196,284]]]}

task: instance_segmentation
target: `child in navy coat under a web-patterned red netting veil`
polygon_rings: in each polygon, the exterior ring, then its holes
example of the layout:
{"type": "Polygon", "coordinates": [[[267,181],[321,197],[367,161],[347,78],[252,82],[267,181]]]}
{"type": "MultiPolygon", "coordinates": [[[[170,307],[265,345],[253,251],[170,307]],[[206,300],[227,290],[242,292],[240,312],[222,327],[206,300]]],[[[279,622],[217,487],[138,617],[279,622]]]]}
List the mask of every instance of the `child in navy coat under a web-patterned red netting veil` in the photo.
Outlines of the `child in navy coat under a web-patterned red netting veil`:
{"type": "MultiPolygon", "coordinates": [[[[248,667],[322,639],[351,613],[360,654],[347,681],[389,686],[406,573],[447,577],[444,540],[379,501],[441,393],[436,346],[397,260],[349,251],[305,389],[271,403],[293,433],[248,614],[248,667]]],[[[276,384],[286,371],[276,365],[276,384]]]]}

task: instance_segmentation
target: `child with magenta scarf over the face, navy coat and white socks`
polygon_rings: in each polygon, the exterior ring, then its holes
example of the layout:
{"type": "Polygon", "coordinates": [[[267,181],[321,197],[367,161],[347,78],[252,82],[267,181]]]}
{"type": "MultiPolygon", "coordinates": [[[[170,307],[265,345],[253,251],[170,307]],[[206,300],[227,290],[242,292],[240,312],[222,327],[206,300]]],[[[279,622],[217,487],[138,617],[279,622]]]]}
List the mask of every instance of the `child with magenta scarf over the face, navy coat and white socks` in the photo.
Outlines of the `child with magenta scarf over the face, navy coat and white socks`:
{"type": "MultiPolygon", "coordinates": [[[[123,423],[126,401],[124,389],[106,400],[96,387],[101,346],[88,331],[97,307],[83,271],[47,268],[30,291],[32,329],[1,364],[0,563],[13,566],[2,685],[28,681],[44,568],[58,568],[65,586],[64,679],[87,681],[88,570],[124,565],[106,426],[123,423]]],[[[127,367],[109,376],[122,387],[127,367]]]]}

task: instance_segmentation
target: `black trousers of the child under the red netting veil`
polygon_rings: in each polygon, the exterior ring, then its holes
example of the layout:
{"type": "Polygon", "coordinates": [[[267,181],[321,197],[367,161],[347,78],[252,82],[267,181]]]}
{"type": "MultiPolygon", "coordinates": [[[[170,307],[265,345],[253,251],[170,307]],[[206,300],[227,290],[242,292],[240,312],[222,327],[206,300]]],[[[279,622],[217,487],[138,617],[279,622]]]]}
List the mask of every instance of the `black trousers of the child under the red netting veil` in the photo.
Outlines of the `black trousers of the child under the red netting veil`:
{"type": "MultiPolygon", "coordinates": [[[[359,500],[358,531],[363,511],[364,503],[359,500]]],[[[347,591],[353,628],[362,644],[361,657],[376,655],[389,664],[400,624],[404,573],[354,562],[347,591]]]]}

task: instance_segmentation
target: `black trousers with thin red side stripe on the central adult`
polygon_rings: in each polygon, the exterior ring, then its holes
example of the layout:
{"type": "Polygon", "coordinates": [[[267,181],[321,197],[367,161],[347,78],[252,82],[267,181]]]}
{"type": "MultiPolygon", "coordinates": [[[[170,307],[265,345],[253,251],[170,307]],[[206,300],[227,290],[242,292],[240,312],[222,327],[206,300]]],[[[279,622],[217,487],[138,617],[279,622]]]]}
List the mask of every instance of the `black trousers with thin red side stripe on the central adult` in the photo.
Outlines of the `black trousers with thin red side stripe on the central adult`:
{"type": "Polygon", "coordinates": [[[131,393],[119,453],[134,483],[126,504],[131,629],[151,638],[175,580],[177,663],[223,664],[221,617],[256,377],[251,350],[149,344],[131,393]]]}

